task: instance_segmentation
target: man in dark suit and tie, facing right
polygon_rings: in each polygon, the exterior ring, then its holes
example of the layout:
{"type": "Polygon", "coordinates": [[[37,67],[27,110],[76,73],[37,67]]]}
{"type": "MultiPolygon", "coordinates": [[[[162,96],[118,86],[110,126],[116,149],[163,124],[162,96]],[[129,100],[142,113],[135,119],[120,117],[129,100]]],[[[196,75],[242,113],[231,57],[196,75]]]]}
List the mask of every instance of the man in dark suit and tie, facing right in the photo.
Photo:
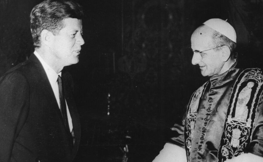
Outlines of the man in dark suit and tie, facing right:
{"type": "Polygon", "coordinates": [[[30,58],[0,79],[0,161],[73,161],[80,141],[71,76],[79,61],[82,8],[46,0],[30,14],[30,58]]]}

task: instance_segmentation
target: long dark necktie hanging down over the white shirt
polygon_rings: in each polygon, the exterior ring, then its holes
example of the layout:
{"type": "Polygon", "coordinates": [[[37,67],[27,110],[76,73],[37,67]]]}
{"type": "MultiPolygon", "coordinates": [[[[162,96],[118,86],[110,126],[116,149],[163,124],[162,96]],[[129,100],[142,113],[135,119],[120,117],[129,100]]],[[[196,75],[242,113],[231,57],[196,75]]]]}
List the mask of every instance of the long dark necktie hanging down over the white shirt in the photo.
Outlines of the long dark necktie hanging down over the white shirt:
{"type": "MultiPolygon", "coordinates": [[[[62,114],[62,118],[65,124],[65,128],[67,133],[70,133],[69,130],[69,125],[68,125],[68,115],[67,115],[67,107],[66,107],[66,103],[65,103],[65,97],[64,97],[64,93],[63,93],[63,86],[62,86],[62,79],[61,77],[58,75],[58,86],[59,86],[59,103],[60,103],[60,111],[62,114]]],[[[70,133],[71,134],[71,133],[70,133]]]]}

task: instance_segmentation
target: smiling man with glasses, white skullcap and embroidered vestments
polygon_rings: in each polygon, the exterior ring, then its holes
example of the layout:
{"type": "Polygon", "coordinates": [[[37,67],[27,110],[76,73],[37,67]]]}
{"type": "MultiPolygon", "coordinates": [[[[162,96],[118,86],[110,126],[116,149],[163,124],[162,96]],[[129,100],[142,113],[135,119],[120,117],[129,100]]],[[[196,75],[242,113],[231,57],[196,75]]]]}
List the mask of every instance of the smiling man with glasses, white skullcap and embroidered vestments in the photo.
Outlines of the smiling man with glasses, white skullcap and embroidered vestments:
{"type": "Polygon", "coordinates": [[[153,162],[263,162],[263,75],[236,68],[236,32],[210,19],[191,36],[192,64],[210,79],[153,162]]]}

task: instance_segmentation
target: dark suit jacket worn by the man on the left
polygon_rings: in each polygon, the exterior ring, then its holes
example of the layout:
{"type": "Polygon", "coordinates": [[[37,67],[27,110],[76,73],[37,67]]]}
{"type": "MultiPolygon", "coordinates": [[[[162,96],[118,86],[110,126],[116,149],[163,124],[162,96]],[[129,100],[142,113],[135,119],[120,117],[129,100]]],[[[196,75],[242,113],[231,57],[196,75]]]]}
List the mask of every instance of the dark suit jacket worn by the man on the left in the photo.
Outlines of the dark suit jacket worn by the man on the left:
{"type": "Polygon", "coordinates": [[[70,145],[62,115],[44,68],[32,54],[0,79],[0,161],[73,161],[80,141],[72,80],[62,71],[75,144],[70,145]]]}

